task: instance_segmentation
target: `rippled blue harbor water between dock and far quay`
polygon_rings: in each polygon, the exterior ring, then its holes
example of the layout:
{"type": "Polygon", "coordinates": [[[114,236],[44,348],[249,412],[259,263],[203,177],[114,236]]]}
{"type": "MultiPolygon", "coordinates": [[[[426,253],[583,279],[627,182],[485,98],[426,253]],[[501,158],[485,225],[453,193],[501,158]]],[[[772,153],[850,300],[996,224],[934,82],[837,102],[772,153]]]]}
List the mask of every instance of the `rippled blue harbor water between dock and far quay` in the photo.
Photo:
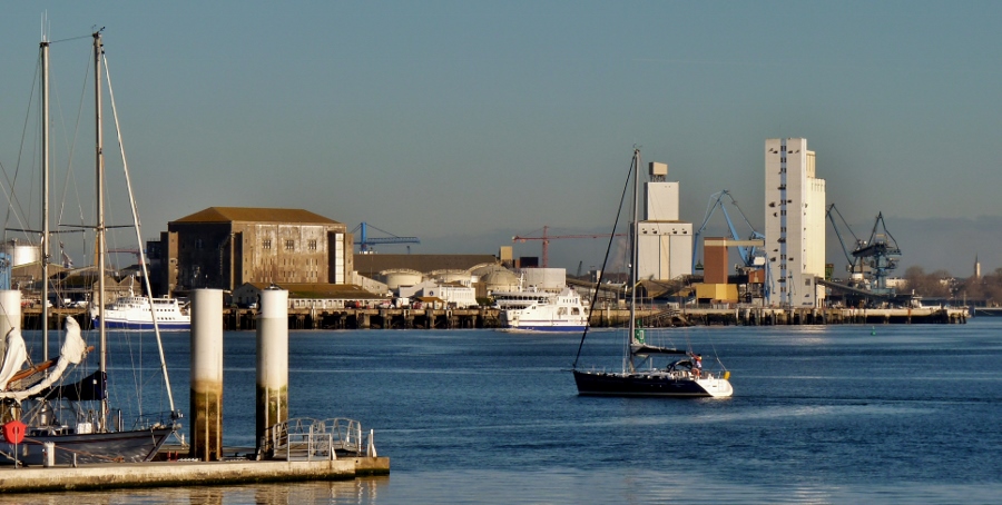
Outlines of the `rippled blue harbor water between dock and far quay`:
{"type": "MultiPolygon", "coordinates": [[[[334,483],[0,495],[0,503],[998,503],[1002,320],[674,329],[727,399],[577,395],[580,335],[291,331],[292,417],[375,430],[391,474],[334,483]]],[[[188,405],[189,339],[165,346],[188,405]]],[[[253,446],[255,334],[224,337],[224,445],[253,446]]],[[[620,366],[618,334],[582,363],[620,366]]],[[[151,364],[153,369],[156,368],[151,364]]],[[[186,419],[187,420],[187,419],[186,419]]],[[[185,428],[187,430],[187,427],[185,428]]]]}

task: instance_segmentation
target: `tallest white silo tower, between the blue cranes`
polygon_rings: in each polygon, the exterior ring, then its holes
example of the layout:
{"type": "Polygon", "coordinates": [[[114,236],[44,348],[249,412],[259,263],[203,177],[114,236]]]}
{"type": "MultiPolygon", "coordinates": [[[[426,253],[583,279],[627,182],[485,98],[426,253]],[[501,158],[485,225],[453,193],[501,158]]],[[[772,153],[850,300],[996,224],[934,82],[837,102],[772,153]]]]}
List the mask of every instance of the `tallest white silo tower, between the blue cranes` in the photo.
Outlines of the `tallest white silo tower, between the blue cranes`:
{"type": "Polygon", "coordinates": [[[818,307],[825,297],[825,180],[807,139],[765,143],[765,250],[769,303],[818,307]]]}

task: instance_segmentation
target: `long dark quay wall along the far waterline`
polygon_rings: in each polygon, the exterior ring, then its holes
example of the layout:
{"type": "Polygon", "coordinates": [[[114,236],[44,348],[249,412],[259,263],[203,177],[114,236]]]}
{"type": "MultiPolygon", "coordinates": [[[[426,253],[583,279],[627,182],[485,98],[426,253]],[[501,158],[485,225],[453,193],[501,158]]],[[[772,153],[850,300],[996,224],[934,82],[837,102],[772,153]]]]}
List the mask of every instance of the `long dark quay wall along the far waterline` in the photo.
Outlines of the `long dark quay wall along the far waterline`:
{"type": "MultiPolygon", "coordinates": [[[[49,328],[61,328],[67,317],[81,320],[90,329],[82,309],[51,309],[49,328]]],[[[666,309],[659,306],[638,309],[646,326],[776,326],[776,325],[885,325],[885,324],[965,324],[964,308],[770,308],[708,307],[666,309]]],[[[629,317],[625,308],[597,308],[591,313],[592,327],[621,326],[629,317]]],[[[22,327],[39,329],[40,310],[24,309],[22,327]]],[[[223,327],[227,330],[256,330],[257,310],[223,309],[223,327]]],[[[342,308],[288,309],[288,329],[462,329],[500,328],[500,310],[495,308],[411,309],[342,308]]]]}

